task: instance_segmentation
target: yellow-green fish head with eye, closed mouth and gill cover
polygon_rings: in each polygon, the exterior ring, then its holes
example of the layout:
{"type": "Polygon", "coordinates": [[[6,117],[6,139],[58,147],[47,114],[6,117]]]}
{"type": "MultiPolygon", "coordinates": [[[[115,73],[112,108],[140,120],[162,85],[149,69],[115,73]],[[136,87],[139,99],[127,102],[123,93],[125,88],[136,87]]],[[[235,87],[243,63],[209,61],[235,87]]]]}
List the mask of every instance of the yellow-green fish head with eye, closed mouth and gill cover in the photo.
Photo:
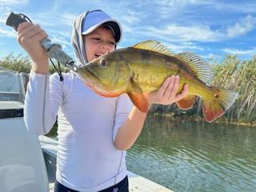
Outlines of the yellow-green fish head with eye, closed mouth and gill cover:
{"type": "Polygon", "coordinates": [[[130,82],[129,66],[114,52],[95,58],[82,68],[84,68],[82,78],[97,90],[111,93],[124,92],[130,82]]]}

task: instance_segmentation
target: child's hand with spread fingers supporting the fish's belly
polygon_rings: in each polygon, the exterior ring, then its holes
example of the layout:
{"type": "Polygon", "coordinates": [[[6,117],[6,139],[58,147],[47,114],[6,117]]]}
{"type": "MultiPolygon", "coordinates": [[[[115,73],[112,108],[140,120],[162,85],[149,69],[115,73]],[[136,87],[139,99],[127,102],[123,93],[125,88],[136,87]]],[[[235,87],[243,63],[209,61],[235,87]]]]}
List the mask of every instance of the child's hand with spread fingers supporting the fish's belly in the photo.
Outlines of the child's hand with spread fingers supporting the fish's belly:
{"type": "Polygon", "coordinates": [[[185,98],[188,94],[188,85],[183,86],[183,90],[178,94],[179,76],[172,75],[166,78],[162,86],[155,92],[146,94],[146,99],[149,104],[170,105],[185,98]]]}

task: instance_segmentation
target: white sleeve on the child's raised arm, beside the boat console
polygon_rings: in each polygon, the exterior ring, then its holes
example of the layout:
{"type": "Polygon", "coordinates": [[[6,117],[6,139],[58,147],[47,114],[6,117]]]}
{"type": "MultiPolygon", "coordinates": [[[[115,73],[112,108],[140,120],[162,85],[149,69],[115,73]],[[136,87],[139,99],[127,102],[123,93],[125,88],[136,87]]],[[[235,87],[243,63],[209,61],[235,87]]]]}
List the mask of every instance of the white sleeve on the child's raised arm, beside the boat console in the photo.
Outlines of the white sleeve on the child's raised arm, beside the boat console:
{"type": "Polygon", "coordinates": [[[62,82],[58,74],[36,74],[30,72],[26,90],[24,121],[33,134],[47,134],[54,122],[62,102],[62,82]]]}

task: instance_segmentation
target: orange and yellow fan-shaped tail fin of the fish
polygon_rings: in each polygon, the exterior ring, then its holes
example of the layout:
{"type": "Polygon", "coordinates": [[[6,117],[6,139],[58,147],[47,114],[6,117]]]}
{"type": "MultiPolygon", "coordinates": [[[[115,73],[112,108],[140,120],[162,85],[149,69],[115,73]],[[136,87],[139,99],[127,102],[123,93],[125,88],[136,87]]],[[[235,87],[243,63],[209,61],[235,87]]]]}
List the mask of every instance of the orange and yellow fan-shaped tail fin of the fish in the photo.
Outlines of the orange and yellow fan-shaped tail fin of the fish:
{"type": "Polygon", "coordinates": [[[238,97],[238,92],[234,90],[219,89],[217,87],[211,87],[211,90],[210,98],[202,98],[202,111],[207,122],[212,122],[215,118],[222,116],[238,97]]]}

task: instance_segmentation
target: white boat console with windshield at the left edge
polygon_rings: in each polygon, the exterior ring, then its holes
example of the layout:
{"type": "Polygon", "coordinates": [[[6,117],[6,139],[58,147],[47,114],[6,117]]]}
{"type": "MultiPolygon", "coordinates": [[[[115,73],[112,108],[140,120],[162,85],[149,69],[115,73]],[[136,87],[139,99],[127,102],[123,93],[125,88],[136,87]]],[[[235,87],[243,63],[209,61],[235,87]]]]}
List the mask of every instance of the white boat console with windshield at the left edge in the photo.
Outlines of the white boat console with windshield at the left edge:
{"type": "Polygon", "coordinates": [[[0,68],[0,190],[49,192],[38,136],[23,121],[26,77],[0,68]]]}

